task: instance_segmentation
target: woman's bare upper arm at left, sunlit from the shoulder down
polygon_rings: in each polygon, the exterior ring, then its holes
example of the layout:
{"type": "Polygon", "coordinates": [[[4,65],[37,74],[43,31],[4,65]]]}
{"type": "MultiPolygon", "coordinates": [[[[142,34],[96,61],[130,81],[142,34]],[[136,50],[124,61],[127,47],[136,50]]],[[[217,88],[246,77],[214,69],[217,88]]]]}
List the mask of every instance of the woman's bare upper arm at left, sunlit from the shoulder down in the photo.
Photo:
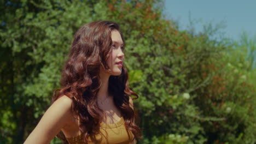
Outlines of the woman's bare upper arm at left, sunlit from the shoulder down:
{"type": "Polygon", "coordinates": [[[50,143],[72,116],[71,105],[72,99],[68,98],[66,95],[57,99],[44,113],[40,122],[27,137],[24,144],[50,143]]]}

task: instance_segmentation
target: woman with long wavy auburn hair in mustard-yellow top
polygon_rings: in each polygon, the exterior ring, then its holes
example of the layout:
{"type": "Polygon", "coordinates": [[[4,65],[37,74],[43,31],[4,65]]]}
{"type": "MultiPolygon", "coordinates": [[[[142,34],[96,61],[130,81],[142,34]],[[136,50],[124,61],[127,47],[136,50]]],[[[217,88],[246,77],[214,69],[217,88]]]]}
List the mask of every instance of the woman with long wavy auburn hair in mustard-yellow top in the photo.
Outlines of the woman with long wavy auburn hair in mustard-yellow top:
{"type": "Polygon", "coordinates": [[[81,27],[65,63],[61,88],[25,143],[136,143],[131,91],[124,67],[124,39],[117,23],[81,27]],[[59,134],[58,134],[59,133],[59,134]]]}

